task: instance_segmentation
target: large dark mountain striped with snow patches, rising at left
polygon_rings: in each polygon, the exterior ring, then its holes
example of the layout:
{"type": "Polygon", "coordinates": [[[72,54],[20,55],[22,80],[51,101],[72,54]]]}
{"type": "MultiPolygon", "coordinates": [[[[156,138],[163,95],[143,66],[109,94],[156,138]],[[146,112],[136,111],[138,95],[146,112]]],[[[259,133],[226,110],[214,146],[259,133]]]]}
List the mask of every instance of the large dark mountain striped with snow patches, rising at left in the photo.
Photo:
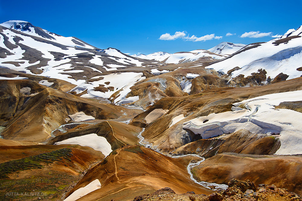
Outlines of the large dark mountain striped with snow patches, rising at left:
{"type": "Polygon", "coordinates": [[[114,48],[98,49],[76,37],[60,36],[20,20],[0,24],[0,49],[2,67],[73,84],[105,71],[157,63],[114,48]]]}

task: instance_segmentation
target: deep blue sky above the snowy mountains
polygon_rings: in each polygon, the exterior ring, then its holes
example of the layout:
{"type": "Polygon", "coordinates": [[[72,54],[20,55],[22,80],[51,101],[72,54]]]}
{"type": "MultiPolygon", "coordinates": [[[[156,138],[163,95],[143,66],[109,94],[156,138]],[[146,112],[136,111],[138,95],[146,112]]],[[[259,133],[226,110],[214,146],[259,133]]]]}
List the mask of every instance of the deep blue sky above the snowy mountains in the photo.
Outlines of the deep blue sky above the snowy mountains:
{"type": "Polygon", "coordinates": [[[268,41],[271,36],[302,25],[301,8],[302,0],[0,0],[0,21],[28,21],[62,36],[76,36],[101,49],[114,47],[130,54],[174,53],[209,49],[223,41],[268,41]],[[173,37],[176,32],[180,33],[173,37]],[[246,37],[240,37],[245,32],[246,37]]]}

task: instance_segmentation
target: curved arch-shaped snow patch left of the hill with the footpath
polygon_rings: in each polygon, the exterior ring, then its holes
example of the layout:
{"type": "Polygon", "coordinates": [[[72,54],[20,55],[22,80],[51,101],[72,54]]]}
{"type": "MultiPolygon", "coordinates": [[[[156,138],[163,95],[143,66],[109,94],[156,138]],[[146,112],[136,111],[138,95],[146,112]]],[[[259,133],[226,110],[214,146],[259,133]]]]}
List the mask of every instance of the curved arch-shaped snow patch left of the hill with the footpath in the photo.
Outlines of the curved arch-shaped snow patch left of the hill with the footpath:
{"type": "Polygon", "coordinates": [[[81,146],[89,146],[92,149],[101,151],[105,156],[108,156],[112,152],[111,145],[108,143],[106,138],[98,136],[95,133],[72,137],[54,144],[78,144],[81,146]]]}

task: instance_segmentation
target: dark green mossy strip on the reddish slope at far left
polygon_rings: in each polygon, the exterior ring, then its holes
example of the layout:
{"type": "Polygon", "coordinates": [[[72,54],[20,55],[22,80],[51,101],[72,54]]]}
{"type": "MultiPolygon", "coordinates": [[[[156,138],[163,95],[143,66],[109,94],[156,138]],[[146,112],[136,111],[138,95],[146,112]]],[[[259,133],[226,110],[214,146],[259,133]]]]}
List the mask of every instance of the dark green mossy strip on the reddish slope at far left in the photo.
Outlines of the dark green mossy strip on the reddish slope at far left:
{"type": "Polygon", "coordinates": [[[7,174],[29,169],[43,168],[41,163],[53,163],[55,161],[63,161],[63,159],[71,161],[71,149],[58,149],[49,153],[43,153],[35,156],[26,157],[23,159],[12,160],[0,164],[0,178],[7,177],[7,174]]]}

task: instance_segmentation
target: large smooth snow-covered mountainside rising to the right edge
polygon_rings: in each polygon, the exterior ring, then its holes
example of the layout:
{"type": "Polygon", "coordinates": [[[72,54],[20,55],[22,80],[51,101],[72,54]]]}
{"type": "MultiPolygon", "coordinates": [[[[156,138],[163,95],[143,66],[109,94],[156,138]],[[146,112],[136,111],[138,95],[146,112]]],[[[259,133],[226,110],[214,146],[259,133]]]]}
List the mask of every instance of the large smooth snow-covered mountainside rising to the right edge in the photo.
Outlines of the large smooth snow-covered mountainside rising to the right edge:
{"type": "Polygon", "coordinates": [[[302,28],[290,34],[270,40],[268,42],[252,43],[225,59],[213,62],[207,68],[227,73],[235,67],[232,77],[239,74],[246,76],[258,69],[265,69],[266,76],[274,78],[280,73],[289,75],[288,79],[301,76],[302,63],[302,28]],[[297,69],[299,68],[299,70],[297,69]]]}

